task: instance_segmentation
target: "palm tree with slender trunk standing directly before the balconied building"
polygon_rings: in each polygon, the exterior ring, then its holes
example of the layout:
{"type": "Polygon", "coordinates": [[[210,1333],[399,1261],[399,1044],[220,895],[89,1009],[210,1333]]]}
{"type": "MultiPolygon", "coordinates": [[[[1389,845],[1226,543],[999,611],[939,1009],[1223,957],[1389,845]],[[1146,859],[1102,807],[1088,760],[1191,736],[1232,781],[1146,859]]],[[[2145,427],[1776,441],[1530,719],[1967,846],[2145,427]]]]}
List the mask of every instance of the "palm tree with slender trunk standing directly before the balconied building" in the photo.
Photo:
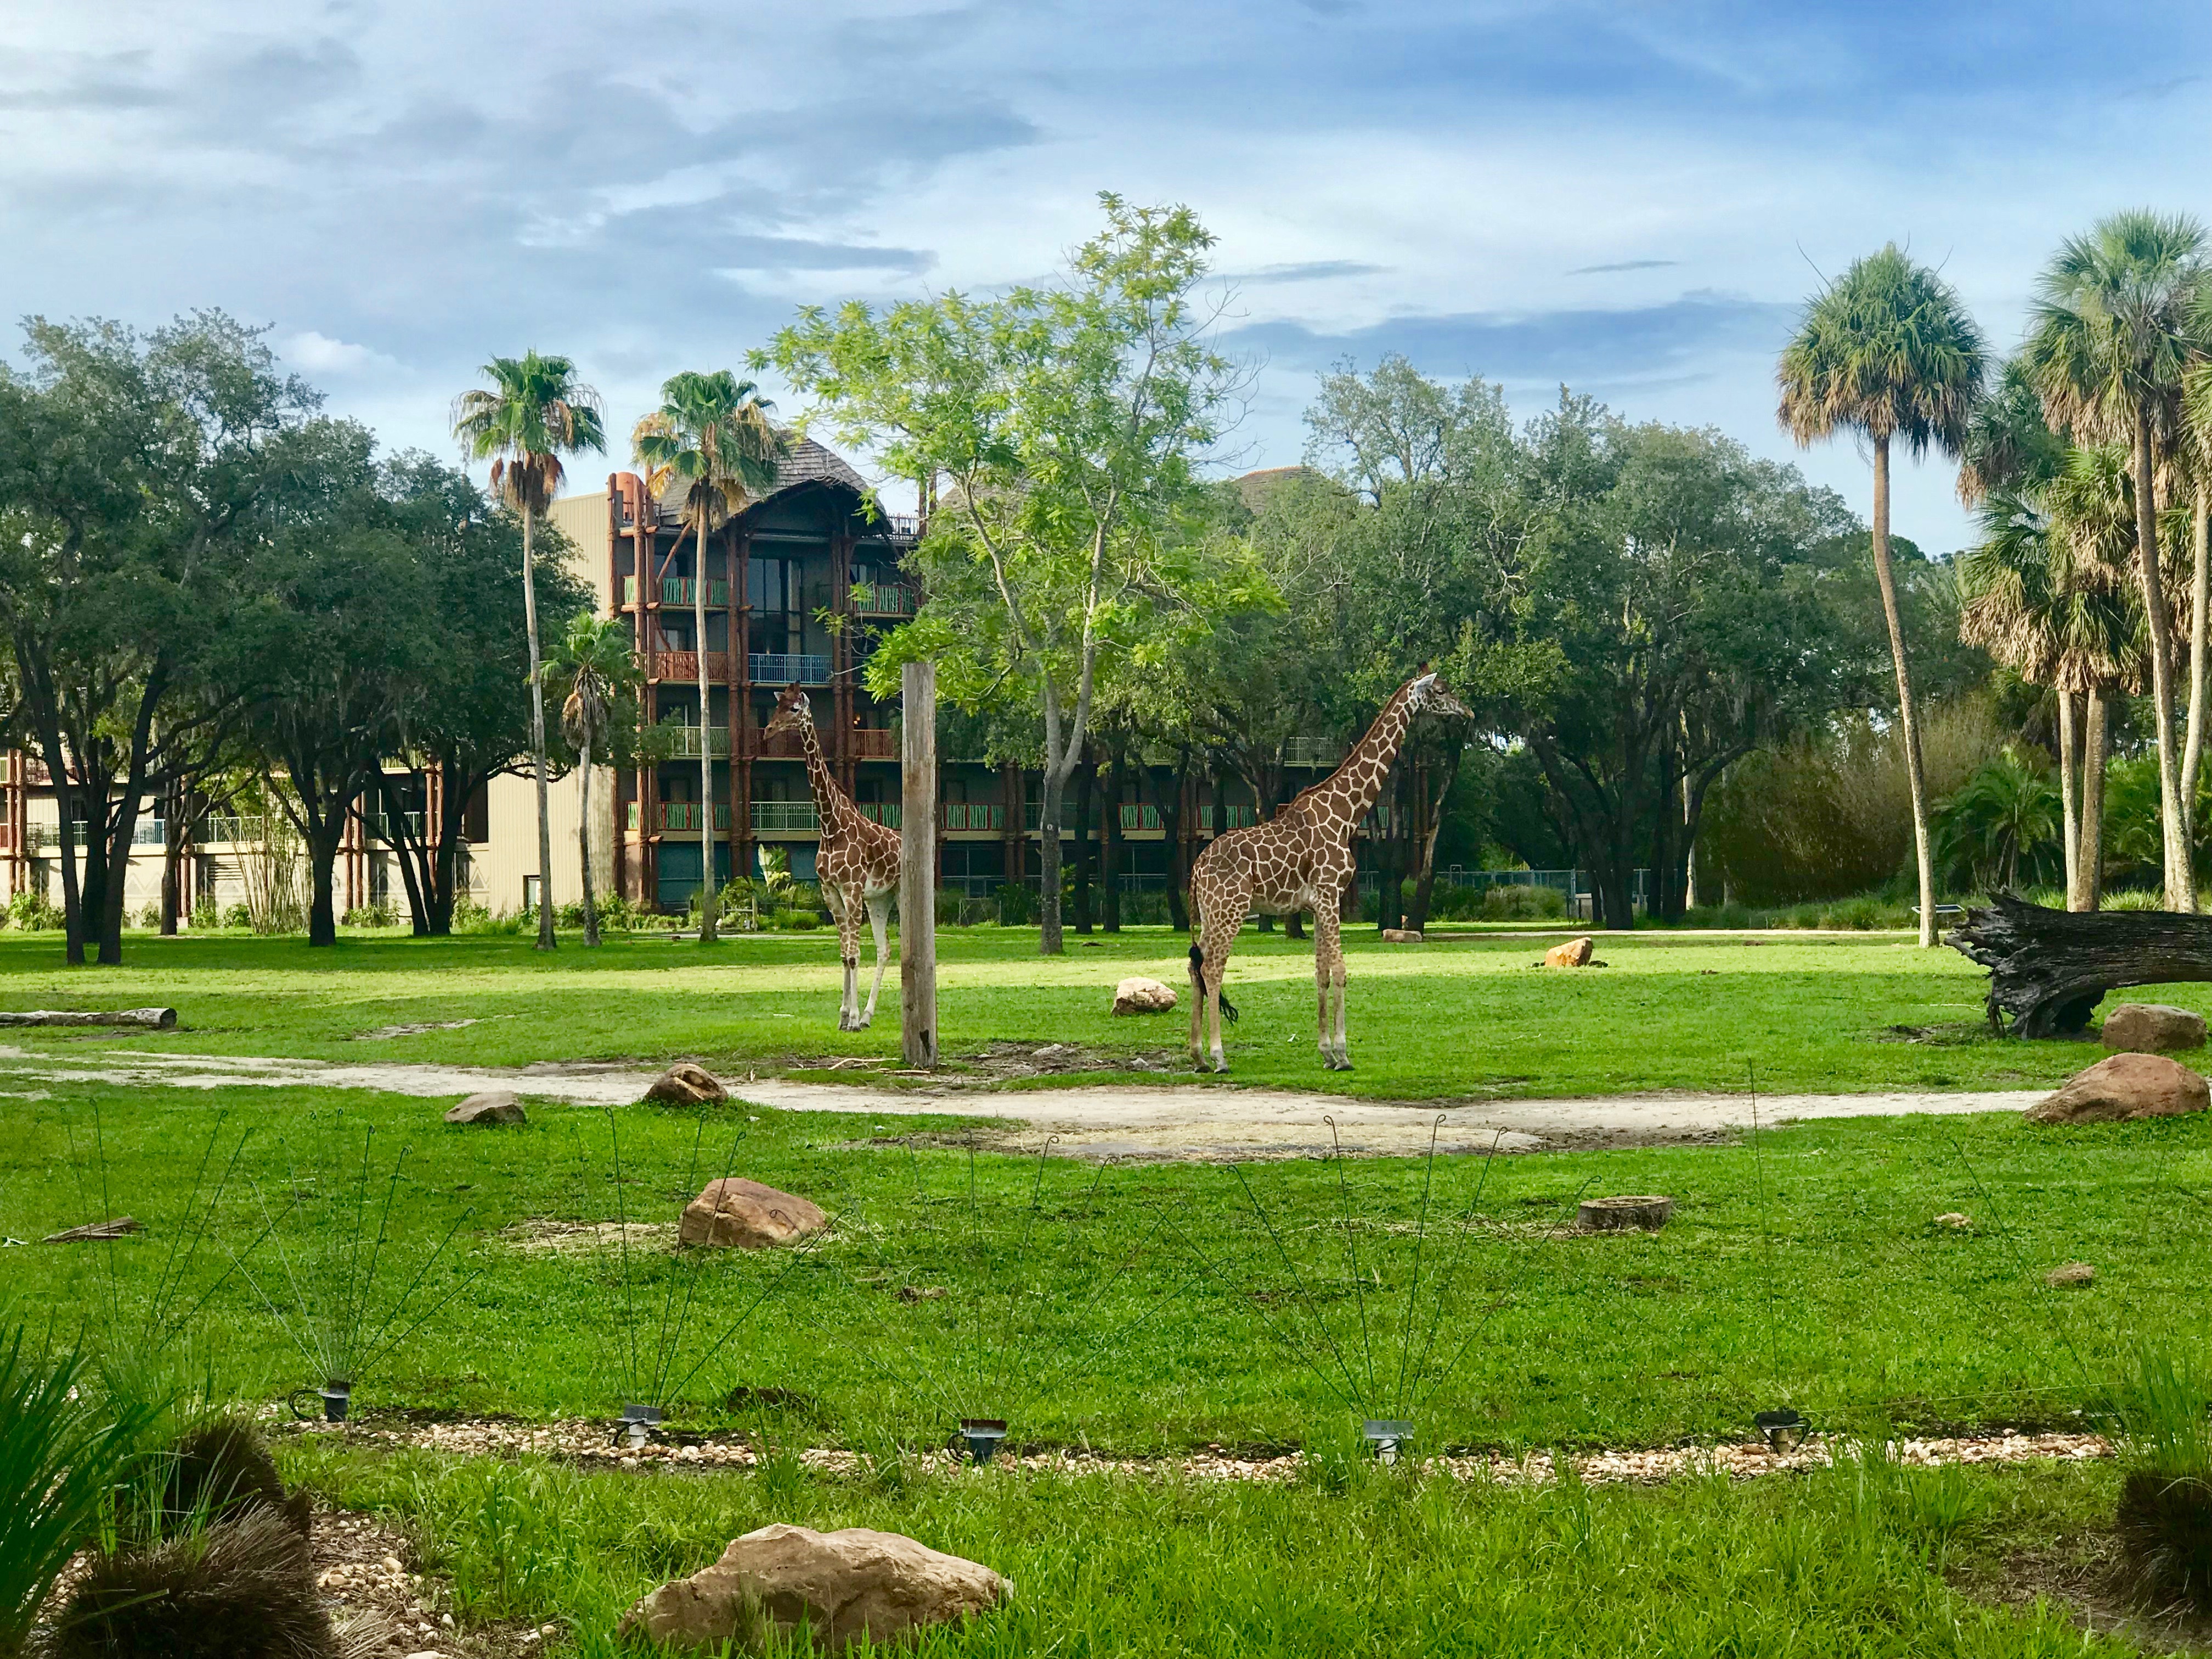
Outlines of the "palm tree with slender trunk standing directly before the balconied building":
{"type": "MultiPolygon", "coordinates": [[[[646,489],[659,495],[686,484],[684,524],[699,538],[692,560],[695,655],[699,659],[699,942],[714,942],[714,752],[708,743],[710,690],[706,672],[706,538],[739,507],[776,482],[783,434],[768,420],[774,409],[752,380],[728,369],[686,369],[661,385],[661,407],[637,422],[630,447],[648,467],[646,489]]],[[[732,602],[739,595],[730,595],[732,602]]],[[[734,641],[732,641],[734,644],[734,641]]]]}

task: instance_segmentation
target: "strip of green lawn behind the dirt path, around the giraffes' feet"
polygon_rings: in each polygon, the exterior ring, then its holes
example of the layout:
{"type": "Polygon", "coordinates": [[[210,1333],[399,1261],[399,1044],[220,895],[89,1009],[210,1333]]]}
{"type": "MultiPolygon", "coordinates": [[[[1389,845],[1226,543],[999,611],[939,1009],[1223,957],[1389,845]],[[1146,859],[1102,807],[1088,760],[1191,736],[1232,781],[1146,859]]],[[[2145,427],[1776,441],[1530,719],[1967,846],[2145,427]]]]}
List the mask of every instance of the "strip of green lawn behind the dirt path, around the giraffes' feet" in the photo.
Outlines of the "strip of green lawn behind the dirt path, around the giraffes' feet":
{"type": "MultiPolygon", "coordinates": [[[[940,933],[940,1026],[958,1064],[993,1040],[1088,1044],[1106,1053],[1186,1048],[1181,1011],[1108,1015],[1115,980],[1150,973],[1186,989],[1186,940],[1166,929],[1077,940],[1057,960],[1035,933],[940,933]]],[[[1312,947],[1248,931],[1230,964],[1243,1022],[1230,1026],[1237,1082],[1396,1099],[1743,1088],[2035,1088],[2084,1064],[2084,1044],[1995,1040],[1984,975],[1907,936],[1730,940],[1708,933],[1601,936],[1606,969],[1535,969],[1535,940],[1464,936],[1427,947],[1349,936],[1352,1053],[1332,1075],[1314,1053],[1312,947]],[[1900,1031],[1902,1029],[1902,1031],[1900,1031]]],[[[666,1060],[781,1066],[821,1055],[898,1051],[896,969],[865,1033],[836,1031],[830,933],[737,938],[712,949],[666,938],[575,942],[540,956],[529,940],[299,940],[131,936],[119,969],[64,969],[51,936],[0,933],[0,1006],[164,1002],[179,1031],[113,1037],[175,1053],[321,1060],[666,1060]],[[383,1042],[394,1024],[473,1020],[383,1042]]],[[[2212,1009],[2212,987],[2157,995],[2212,1009]]],[[[82,1033],[9,1033],[24,1048],[84,1055],[82,1033]]],[[[1095,1073],[1088,1079],[1097,1079],[1095,1073]]]]}

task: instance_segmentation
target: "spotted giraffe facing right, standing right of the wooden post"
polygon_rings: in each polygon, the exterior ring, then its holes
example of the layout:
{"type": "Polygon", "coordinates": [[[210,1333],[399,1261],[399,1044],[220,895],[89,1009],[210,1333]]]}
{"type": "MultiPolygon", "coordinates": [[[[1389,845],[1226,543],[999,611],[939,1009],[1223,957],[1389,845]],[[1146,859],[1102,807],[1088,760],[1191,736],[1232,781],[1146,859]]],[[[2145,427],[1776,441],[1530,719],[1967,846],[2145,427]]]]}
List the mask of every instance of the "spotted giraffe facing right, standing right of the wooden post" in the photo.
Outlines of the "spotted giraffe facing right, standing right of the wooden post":
{"type": "Polygon", "coordinates": [[[1416,714],[1467,714],[1436,675],[1422,672],[1391,692],[1345,763],[1267,823],[1214,836],[1190,872],[1190,900],[1199,940],[1190,947],[1190,1064],[1206,1071],[1206,1022],[1212,1020],[1214,1071],[1221,1057],[1221,1015],[1237,1006],[1221,993],[1221,971],[1243,929],[1245,911],[1287,916],[1314,911],[1314,993],[1318,1002],[1321,1064],[1352,1071],[1345,1048],[1345,949],[1336,905],[1352,880],[1352,832],[1383,792],[1398,745],[1416,714]],[[1329,1033],[1334,993],[1336,1031],[1329,1033]]]}

